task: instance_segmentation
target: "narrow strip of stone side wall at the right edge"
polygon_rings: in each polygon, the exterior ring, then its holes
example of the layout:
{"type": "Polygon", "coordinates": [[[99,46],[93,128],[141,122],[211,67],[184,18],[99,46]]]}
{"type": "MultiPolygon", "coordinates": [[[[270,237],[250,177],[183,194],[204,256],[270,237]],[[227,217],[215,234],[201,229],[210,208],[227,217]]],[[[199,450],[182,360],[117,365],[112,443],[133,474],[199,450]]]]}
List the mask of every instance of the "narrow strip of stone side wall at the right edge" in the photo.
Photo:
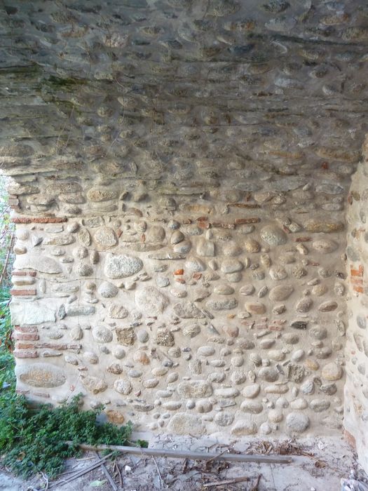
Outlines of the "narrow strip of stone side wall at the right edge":
{"type": "Polygon", "coordinates": [[[367,459],[367,140],[364,159],[353,176],[348,196],[348,331],[346,342],[346,386],[344,426],[355,438],[364,468],[367,459]]]}

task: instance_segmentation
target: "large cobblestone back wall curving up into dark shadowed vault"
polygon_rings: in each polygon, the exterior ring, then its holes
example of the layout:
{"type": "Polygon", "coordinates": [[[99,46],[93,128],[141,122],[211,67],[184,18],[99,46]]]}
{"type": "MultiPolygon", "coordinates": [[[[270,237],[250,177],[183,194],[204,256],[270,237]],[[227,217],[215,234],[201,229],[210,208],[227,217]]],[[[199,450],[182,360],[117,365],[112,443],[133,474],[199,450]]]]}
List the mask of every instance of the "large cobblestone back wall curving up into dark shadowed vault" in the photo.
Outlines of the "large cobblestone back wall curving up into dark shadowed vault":
{"type": "Polygon", "coordinates": [[[142,429],[340,431],[367,26],[361,1],[5,8],[18,391],[142,429]]]}

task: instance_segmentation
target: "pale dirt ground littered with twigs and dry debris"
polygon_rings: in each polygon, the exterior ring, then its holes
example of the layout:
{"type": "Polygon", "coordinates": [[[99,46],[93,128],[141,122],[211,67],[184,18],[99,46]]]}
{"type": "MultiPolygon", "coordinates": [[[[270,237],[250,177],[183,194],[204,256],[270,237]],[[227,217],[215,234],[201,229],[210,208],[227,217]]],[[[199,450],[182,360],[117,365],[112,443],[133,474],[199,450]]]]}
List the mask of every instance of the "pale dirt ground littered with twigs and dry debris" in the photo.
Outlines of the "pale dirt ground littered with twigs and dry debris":
{"type": "MultiPolygon", "coordinates": [[[[146,435],[143,435],[147,439],[146,435]]],[[[142,438],[142,435],[137,436],[142,438]]],[[[64,473],[55,480],[36,476],[27,482],[14,478],[6,469],[0,469],[1,491],[151,491],[151,490],[209,490],[209,491],[340,491],[341,478],[348,478],[354,469],[356,476],[367,483],[367,476],[357,464],[354,453],[341,437],[298,440],[243,439],[228,441],[217,438],[178,438],[154,436],[149,438],[150,448],[211,452],[247,453],[261,455],[288,455],[289,464],[249,464],[212,462],[140,455],[122,455],[102,466],[68,482],[76,471],[97,462],[94,452],[86,452],[81,459],[69,459],[64,473]],[[109,478],[115,483],[109,483],[109,478]],[[233,478],[249,480],[232,482],[233,478]],[[219,485],[222,481],[230,481],[219,485]],[[214,483],[217,485],[208,485],[214,483]]]]}

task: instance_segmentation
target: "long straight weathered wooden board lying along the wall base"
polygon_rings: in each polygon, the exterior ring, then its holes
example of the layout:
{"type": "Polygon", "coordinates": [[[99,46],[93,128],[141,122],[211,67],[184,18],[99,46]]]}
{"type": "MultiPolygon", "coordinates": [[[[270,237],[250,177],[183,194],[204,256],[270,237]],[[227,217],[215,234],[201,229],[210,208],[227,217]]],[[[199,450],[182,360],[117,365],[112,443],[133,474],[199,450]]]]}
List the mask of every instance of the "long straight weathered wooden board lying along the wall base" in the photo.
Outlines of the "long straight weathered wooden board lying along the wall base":
{"type": "MultiPolygon", "coordinates": [[[[69,443],[69,442],[67,442],[69,443]]],[[[189,450],[166,450],[165,448],[141,448],[141,447],[125,447],[122,445],[87,445],[79,443],[79,448],[83,450],[111,450],[111,452],[123,452],[132,455],[149,455],[151,457],[169,457],[171,459],[191,459],[191,460],[212,460],[219,459],[226,462],[257,462],[264,464],[289,464],[292,462],[292,457],[285,455],[246,455],[246,454],[230,454],[218,455],[206,452],[190,452],[189,450]]]]}

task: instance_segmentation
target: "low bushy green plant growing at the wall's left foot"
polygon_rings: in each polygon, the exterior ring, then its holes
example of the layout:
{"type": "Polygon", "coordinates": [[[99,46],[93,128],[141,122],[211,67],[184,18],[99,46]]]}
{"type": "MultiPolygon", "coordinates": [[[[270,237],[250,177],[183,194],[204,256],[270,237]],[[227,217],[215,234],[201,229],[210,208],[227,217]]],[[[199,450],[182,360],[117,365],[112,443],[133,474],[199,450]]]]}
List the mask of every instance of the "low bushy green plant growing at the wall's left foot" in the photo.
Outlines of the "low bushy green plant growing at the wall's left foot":
{"type": "Polygon", "coordinates": [[[30,408],[24,396],[9,393],[0,398],[0,448],[4,464],[23,477],[43,471],[53,478],[62,470],[64,459],[79,455],[78,443],[126,445],[132,424],[99,424],[103,409],[83,411],[81,394],[71,403],[51,408],[30,408]],[[69,442],[69,443],[67,443],[69,442]]]}

